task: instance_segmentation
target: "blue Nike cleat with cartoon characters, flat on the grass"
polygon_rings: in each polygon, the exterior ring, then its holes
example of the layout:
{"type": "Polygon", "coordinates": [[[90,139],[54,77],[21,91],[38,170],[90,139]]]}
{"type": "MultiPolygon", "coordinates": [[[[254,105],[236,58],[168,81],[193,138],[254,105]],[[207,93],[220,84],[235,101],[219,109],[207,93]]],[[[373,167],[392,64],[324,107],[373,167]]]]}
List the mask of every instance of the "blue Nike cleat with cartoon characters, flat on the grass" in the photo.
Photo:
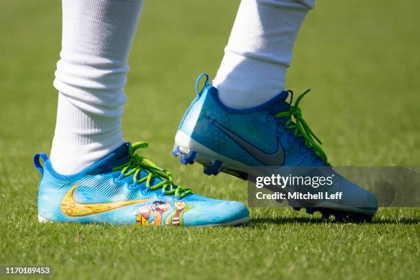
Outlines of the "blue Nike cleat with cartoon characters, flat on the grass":
{"type": "Polygon", "coordinates": [[[45,154],[36,154],[34,165],[42,174],[38,220],[155,226],[248,222],[248,209],[241,202],[205,198],[175,185],[170,172],[135,154],[146,147],[145,142],[126,143],[71,176],[58,174],[45,154]]]}

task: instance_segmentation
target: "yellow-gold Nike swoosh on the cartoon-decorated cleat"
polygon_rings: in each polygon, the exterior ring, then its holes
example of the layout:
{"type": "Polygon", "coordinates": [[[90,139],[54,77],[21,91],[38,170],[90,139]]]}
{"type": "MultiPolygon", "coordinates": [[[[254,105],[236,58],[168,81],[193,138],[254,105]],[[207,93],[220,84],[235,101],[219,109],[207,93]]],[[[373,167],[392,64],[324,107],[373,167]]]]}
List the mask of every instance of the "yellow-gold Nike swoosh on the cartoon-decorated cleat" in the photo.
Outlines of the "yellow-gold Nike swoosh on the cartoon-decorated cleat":
{"type": "Polygon", "coordinates": [[[152,199],[140,199],[105,203],[79,203],[74,200],[73,196],[76,187],[78,187],[78,183],[75,183],[75,185],[73,185],[73,187],[67,191],[67,194],[61,200],[60,209],[62,213],[70,217],[83,217],[86,215],[104,213],[128,205],[152,201],[152,199]]]}

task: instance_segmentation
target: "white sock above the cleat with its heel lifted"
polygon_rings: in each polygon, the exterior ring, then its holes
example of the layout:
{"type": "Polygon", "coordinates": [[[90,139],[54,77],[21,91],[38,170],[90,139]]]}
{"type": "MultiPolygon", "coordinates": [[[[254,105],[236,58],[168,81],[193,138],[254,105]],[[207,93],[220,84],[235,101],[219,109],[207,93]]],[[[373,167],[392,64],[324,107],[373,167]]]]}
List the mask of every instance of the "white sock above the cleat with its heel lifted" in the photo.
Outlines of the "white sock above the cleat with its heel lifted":
{"type": "Polygon", "coordinates": [[[242,0],[213,86],[231,108],[263,104],[284,89],[292,47],[314,0],[242,0]]]}

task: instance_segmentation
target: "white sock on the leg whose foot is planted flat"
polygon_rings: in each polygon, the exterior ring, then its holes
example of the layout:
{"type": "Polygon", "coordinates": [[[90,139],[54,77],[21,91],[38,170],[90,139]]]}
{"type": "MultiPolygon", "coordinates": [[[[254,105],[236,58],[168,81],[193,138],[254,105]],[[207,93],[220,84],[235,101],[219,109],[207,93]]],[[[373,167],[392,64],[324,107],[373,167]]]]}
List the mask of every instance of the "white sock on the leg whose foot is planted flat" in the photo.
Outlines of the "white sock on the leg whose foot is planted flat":
{"type": "Polygon", "coordinates": [[[62,0],[62,50],[51,163],[75,174],[124,143],[128,55],[143,0],[62,0]]]}

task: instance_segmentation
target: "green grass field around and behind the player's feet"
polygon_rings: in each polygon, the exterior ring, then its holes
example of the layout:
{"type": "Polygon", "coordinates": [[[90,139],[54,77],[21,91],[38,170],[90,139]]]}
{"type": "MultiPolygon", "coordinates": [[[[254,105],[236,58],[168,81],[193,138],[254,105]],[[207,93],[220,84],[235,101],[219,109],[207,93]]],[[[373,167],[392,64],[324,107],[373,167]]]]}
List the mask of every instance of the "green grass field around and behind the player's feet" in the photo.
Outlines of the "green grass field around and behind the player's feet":
{"type": "MultiPolygon", "coordinates": [[[[123,129],[183,186],[246,202],[246,182],[171,156],[196,75],[215,75],[238,3],[146,1],[123,129]]],[[[0,7],[0,265],[45,264],[64,279],[420,278],[419,209],[380,209],[372,224],[267,208],[223,229],[38,224],[32,156],[54,133],[60,1],[0,7]]],[[[419,12],[416,0],[330,0],[307,17],[287,83],[312,88],[303,114],[334,165],[420,165],[419,12]]]]}

